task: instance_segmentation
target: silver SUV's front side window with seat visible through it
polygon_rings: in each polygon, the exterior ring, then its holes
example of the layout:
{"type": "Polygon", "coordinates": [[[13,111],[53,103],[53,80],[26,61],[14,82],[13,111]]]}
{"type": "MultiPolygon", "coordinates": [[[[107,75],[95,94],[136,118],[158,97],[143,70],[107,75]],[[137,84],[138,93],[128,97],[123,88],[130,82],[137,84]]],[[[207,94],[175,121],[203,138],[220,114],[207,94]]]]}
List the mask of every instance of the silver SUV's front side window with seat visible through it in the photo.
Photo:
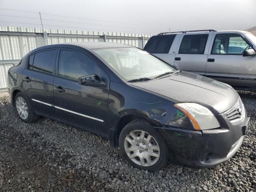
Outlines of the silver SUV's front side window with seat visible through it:
{"type": "Polygon", "coordinates": [[[242,55],[250,45],[239,34],[216,34],[211,54],[242,55]]]}

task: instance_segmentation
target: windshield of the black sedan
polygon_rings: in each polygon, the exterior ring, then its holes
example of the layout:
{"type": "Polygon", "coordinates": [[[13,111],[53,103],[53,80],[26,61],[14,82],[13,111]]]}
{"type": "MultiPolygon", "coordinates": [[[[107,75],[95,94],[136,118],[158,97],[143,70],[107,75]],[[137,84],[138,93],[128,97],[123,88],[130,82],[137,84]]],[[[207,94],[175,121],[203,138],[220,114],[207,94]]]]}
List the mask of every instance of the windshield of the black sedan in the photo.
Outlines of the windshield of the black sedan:
{"type": "Polygon", "coordinates": [[[150,80],[177,71],[148,52],[134,47],[100,48],[93,51],[127,81],[150,80]]]}

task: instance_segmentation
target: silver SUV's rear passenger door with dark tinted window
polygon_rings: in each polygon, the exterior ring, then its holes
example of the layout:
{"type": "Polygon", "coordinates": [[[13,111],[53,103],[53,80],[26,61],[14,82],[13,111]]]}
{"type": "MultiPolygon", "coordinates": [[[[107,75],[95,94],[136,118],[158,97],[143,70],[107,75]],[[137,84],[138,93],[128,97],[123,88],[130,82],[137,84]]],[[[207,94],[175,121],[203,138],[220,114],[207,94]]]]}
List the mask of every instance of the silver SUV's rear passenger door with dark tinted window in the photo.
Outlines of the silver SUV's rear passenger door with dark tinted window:
{"type": "Polygon", "coordinates": [[[204,75],[212,33],[182,34],[174,65],[180,70],[204,75]]]}

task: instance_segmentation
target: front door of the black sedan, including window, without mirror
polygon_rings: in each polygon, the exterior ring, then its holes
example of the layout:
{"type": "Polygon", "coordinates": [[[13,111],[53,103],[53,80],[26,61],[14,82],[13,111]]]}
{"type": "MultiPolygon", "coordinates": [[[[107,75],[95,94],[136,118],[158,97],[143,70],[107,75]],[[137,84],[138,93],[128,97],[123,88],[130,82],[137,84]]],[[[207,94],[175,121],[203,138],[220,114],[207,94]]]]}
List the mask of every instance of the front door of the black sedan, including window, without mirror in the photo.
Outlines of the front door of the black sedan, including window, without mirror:
{"type": "Polygon", "coordinates": [[[54,77],[54,101],[58,118],[64,122],[108,135],[108,91],[110,79],[106,72],[88,55],[59,49],[54,77]],[[105,87],[78,84],[78,78],[96,74],[105,87]]]}

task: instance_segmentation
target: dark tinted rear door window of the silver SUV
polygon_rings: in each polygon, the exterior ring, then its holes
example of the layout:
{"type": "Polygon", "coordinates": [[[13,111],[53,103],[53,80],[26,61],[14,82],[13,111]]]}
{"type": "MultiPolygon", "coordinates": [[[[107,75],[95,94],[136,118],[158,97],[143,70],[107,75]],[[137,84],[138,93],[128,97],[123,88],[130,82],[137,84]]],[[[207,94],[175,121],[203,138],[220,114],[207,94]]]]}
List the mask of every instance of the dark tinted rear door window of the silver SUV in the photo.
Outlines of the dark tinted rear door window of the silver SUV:
{"type": "Polygon", "coordinates": [[[180,44],[181,54],[204,54],[208,34],[184,35],[180,44]]]}

